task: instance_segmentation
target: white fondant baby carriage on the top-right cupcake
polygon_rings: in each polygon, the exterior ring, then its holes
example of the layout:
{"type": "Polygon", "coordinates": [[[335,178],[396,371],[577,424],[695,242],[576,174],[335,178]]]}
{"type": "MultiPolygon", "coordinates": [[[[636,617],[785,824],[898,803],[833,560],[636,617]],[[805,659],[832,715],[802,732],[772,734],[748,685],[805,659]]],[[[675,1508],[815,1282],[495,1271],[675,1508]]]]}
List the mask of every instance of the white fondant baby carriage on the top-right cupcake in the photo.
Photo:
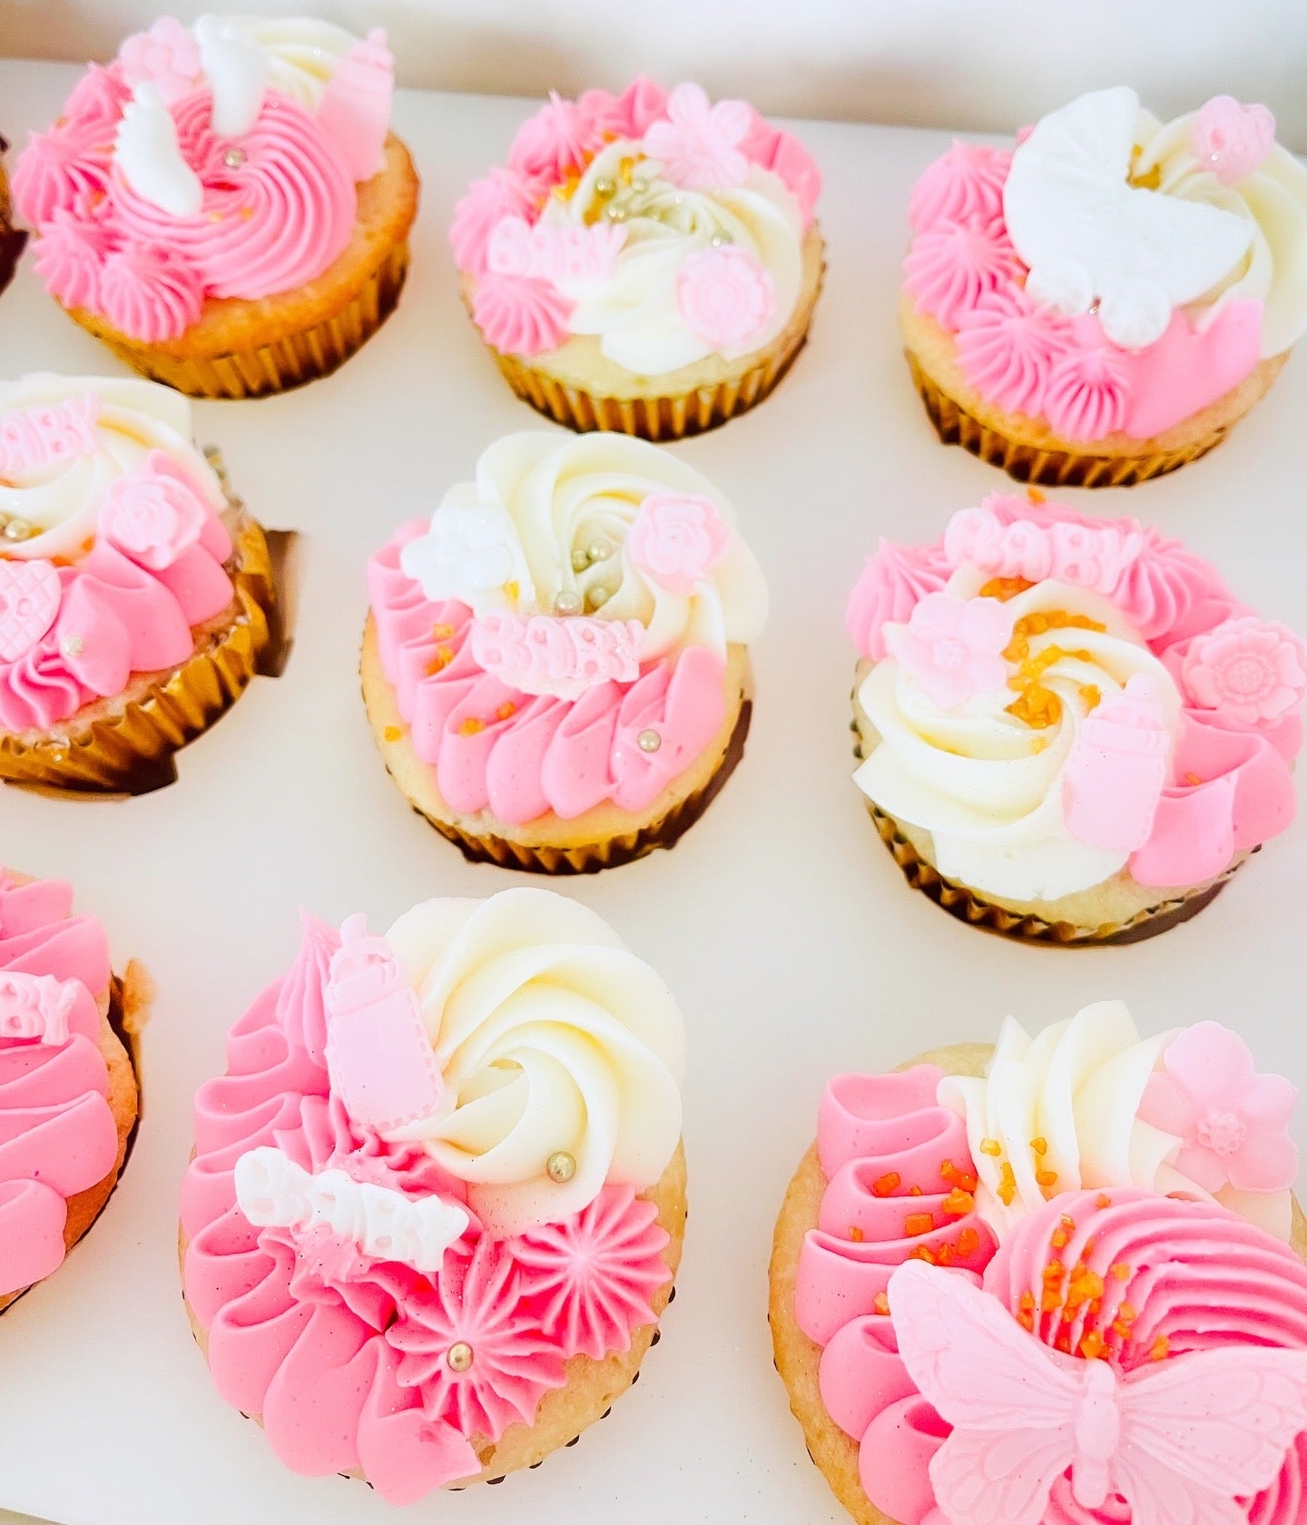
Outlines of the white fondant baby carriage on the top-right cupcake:
{"type": "Polygon", "coordinates": [[[1004,220],[1029,267],[1026,291],[1069,317],[1098,302],[1103,331],[1141,349],[1173,308],[1244,258],[1248,221],[1129,183],[1139,98],[1118,85],[1043,117],[1013,154],[1004,220]]]}

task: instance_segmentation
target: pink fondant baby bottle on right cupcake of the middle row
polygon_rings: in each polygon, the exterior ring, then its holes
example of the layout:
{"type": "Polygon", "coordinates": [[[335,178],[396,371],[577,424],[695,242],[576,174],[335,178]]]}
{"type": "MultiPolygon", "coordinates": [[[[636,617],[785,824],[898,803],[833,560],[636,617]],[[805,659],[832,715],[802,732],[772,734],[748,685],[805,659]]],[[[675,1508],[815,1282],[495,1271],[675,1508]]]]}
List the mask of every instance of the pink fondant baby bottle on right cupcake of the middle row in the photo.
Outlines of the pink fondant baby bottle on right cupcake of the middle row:
{"type": "Polygon", "coordinates": [[[1071,834],[1107,852],[1133,852],[1153,830],[1171,734],[1154,680],[1136,673],[1080,727],[1066,759],[1063,810],[1071,834]]]}

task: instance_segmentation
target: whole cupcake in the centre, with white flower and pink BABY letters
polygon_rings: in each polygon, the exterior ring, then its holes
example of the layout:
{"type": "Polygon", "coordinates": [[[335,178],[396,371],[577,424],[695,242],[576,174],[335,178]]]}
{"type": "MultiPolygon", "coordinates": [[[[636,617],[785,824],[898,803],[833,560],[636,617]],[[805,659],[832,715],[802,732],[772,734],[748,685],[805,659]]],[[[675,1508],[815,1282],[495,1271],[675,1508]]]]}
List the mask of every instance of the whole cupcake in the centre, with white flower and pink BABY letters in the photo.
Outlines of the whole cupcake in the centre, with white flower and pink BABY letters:
{"type": "Polygon", "coordinates": [[[368,586],[372,734],[470,859],[589,874],[673,846],[743,756],[767,589],[657,445],[509,435],[368,586]]]}

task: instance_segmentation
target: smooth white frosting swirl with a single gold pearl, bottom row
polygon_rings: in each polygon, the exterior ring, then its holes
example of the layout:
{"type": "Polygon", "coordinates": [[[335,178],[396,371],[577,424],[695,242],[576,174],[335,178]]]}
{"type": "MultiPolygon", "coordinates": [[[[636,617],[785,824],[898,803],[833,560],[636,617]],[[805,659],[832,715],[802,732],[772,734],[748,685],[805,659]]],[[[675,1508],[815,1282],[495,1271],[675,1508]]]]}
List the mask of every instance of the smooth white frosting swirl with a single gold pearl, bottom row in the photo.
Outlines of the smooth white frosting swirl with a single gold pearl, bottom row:
{"type": "Polygon", "coordinates": [[[685,1028],[659,976],[584,906],[543,889],[429,900],[387,939],[445,1084],[416,1139],[497,1235],[558,1222],[605,1183],[645,1190],[680,1139],[685,1028]],[[546,1162],[575,1161],[567,1180],[546,1162]]]}

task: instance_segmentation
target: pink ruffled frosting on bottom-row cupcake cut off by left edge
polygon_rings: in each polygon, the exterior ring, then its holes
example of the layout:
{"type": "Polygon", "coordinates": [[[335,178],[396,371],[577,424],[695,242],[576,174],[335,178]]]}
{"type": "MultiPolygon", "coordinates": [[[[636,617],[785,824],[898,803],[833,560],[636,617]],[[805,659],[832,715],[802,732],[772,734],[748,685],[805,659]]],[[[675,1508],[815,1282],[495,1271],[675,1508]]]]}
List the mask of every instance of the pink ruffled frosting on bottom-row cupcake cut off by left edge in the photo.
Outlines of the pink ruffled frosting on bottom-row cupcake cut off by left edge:
{"type": "Polygon", "coordinates": [[[96,1006],[108,944],[95,917],[70,915],[72,894],[0,871],[0,971],[76,985],[64,1042],[0,1035],[0,1296],[59,1267],[69,1199],[117,1159],[96,1006]]]}

